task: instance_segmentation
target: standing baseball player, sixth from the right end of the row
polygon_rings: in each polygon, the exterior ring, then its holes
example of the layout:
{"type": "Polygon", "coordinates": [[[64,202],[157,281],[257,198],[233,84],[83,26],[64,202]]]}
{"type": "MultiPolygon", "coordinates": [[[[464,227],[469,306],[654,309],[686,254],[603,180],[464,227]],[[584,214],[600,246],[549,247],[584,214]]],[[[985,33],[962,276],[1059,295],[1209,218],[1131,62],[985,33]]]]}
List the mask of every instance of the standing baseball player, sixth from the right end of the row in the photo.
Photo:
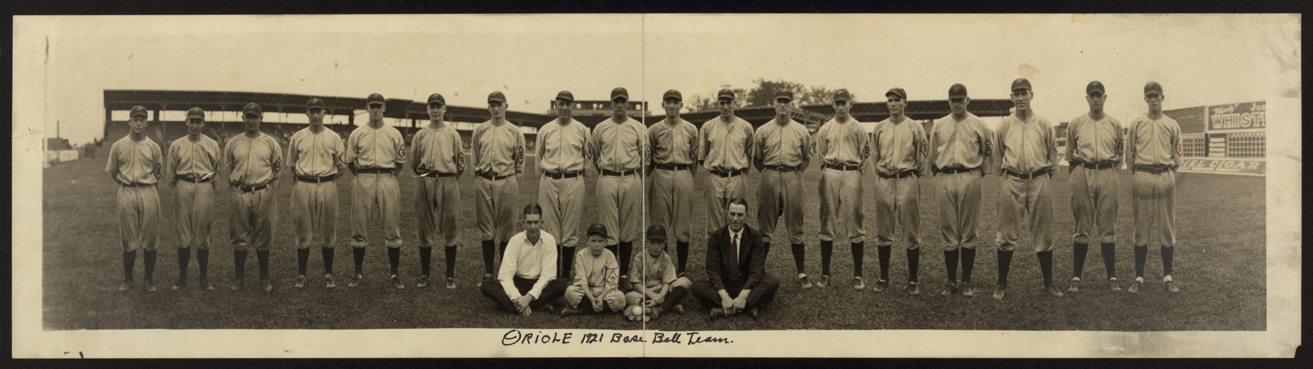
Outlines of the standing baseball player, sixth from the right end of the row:
{"type": "MultiPolygon", "coordinates": [[[[830,284],[830,255],[834,253],[834,227],[843,218],[844,235],[852,250],[852,288],[861,290],[861,259],[865,251],[867,231],[863,227],[863,186],[861,168],[871,156],[871,142],[867,130],[856,118],[848,116],[852,108],[852,93],[847,89],[834,92],[831,98],[834,118],[817,130],[817,155],[825,160],[821,171],[818,193],[821,194],[821,281],[818,288],[830,284]]],[[[800,259],[801,260],[801,259],[800,259]]],[[[800,261],[801,263],[801,261],[800,261]]],[[[802,267],[798,267],[801,271],[802,267]]]]}

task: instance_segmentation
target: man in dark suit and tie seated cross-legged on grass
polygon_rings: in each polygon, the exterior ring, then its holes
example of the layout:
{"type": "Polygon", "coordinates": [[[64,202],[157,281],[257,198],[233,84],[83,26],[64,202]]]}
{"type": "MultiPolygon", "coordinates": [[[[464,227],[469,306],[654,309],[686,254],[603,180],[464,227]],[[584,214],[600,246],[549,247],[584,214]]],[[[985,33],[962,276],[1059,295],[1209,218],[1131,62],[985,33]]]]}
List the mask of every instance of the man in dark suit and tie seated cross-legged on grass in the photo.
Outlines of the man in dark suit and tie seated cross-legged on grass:
{"type": "Polygon", "coordinates": [[[713,306],[712,319],[738,313],[756,319],[758,307],[775,295],[780,281],[765,273],[762,234],[743,223],[747,201],[730,200],[727,214],[727,225],[708,239],[706,280],[693,282],[693,295],[713,306]]]}

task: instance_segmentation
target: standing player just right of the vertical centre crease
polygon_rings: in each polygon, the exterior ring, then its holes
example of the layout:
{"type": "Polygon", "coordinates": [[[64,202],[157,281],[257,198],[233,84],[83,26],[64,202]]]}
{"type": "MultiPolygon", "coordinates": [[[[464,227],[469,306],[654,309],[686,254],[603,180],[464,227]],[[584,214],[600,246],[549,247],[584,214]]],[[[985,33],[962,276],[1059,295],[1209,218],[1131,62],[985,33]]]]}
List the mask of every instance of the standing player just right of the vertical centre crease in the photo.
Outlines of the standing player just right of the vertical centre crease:
{"type": "Polygon", "coordinates": [[[647,218],[653,225],[671,230],[679,264],[676,274],[684,274],[688,263],[688,242],[692,238],[689,222],[693,218],[693,169],[697,165],[697,147],[702,141],[697,127],[679,118],[684,97],[671,89],[662,96],[666,118],[647,127],[651,137],[651,184],[649,186],[647,218]]]}

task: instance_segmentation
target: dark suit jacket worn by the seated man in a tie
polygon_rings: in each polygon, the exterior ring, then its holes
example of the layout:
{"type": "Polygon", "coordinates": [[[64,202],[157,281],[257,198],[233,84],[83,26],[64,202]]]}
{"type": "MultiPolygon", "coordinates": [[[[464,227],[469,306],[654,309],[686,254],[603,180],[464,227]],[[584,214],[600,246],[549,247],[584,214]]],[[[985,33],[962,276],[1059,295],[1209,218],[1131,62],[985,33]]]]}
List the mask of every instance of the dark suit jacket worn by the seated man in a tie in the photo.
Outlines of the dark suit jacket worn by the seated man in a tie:
{"type": "Polygon", "coordinates": [[[743,225],[739,243],[743,250],[738,252],[738,260],[735,260],[735,250],[727,225],[716,230],[708,239],[706,280],[712,289],[742,288],[750,290],[765,277],[765,243],[762,242],[762,234],[743,225]]]}

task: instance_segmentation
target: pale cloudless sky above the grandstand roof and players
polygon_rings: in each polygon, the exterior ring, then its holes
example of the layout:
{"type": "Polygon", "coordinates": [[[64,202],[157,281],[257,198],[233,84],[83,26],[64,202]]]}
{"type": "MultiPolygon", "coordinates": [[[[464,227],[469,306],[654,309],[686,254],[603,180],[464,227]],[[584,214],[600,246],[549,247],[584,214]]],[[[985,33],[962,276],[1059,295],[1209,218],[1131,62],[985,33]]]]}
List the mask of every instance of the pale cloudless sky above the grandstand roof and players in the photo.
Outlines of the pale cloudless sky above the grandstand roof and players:
{"type": "Polygon", "coordinates": [[[1281,14],[33,16],[14,20],[14,95],[38,97],[43,134],[59,122],[74,144],[101,135],[104,89],[437,92],[463,106],[502,91],[511,110],[544,113],[562,89],[655,101],[764,77],[871,102],[890,87],[943,100],[953,83],[1007,98],[1028,77],[1035,112],[1054,123],[1087,110],[1090,80],[1125,123],[1145,112],[1150,80],[1167,109],[1299,93],[1297,33],[1299,17],[1281,14]]]}

